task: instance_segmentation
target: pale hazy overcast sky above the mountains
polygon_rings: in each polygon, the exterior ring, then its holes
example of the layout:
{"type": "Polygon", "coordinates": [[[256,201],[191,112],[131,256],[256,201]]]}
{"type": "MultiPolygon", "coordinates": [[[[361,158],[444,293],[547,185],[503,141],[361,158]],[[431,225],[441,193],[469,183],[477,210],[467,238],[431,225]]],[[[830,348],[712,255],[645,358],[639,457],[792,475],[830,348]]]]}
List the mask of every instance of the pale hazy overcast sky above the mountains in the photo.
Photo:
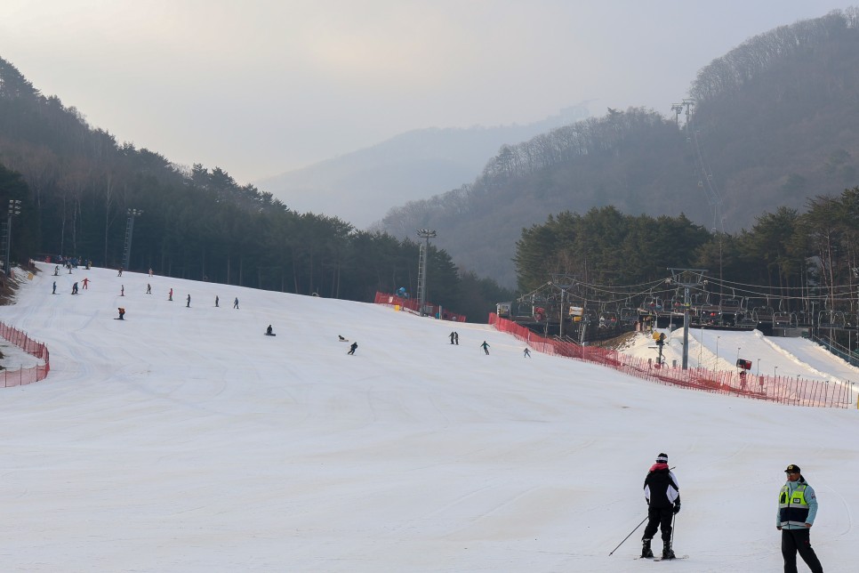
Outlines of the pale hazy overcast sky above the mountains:
{"type": "Polygon", "coordinates": [[[252,182],[422,127],[670,114],[743,40],[849,0],[3,0],[0,57],[93,127],[252,182]]]}

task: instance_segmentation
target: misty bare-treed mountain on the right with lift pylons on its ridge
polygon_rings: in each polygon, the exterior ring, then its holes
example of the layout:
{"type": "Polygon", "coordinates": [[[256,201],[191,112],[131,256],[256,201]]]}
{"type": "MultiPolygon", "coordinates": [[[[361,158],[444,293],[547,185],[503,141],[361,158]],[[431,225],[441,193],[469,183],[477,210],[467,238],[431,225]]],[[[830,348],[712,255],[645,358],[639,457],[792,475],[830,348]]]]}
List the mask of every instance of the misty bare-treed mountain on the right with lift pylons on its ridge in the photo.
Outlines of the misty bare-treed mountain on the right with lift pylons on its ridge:
{"type": "Polygon", "coordinates": [[[615,206],[735,233],[837,196],[859,178],[857,14],[751,38],[702,68],[677,113],[609,109],[505,146],[474,182],[392,209],[381,229],[435,229],[458,262],[511,285],[521,230],[550,214],[615,206]]]}

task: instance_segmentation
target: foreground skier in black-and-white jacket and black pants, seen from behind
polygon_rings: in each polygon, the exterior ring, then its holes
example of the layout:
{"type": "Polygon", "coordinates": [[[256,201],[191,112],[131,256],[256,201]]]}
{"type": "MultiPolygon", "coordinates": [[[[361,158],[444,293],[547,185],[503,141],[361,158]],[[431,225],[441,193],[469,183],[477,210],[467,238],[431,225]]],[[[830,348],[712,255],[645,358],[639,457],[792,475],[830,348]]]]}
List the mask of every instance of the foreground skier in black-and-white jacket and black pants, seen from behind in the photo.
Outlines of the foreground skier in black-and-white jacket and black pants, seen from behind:
{"type": "Polygon", "coordinates": [[[680,487],[677,476],[668,467],[668,454],[656,456],[656,463],[650,467],[645,478],[645,499],[647,500],[647,527],[641,537],[641,556],[653,557],[650,542],[656,529],[662,530],[662,559],[674,559],[671,549],[671,520],[680,512],[680,487]]]}

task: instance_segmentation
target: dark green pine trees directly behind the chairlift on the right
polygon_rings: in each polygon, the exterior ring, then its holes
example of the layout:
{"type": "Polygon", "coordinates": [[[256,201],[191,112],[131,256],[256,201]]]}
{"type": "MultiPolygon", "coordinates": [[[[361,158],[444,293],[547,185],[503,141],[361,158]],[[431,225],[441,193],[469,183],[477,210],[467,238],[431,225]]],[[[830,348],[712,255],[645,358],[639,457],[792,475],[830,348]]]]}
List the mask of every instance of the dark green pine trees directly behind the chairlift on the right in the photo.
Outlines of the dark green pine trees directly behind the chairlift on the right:
{"type": "Polygon", "coordinates": [[[807,211],[779,207],[750,230],[707,230],[686,216],[632,216],[613,206],[564,212],[522,231],[514,262],[518,290],[529,292],[553,274],[605,286],[642,285],[668,269],[708,270],[743,293],[784,300],[784,310],[859,311],[859,187],[817,196],[807,211]]]}

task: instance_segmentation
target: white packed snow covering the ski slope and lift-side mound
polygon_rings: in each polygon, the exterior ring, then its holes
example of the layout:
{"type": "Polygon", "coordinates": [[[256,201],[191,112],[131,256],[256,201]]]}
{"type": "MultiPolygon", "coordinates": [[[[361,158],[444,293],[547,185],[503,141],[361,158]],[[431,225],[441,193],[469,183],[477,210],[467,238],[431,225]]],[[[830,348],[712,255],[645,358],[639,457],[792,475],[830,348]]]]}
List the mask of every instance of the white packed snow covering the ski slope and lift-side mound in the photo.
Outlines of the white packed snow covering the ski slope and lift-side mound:
{"type": "MultiPolygon", "coordinates": [[[[40,266],[0,308],[51,352],[46,380],[0,389],[3,570],[778,571],[787,464],[817,491],[824,569],[855,570],[855,409],[527,359],[491,327],[373,304],[40,266]],[[662,451],[690,558],[635,561],[643,527],[609,556],[662,451]]],[[[691,366],[855,376],[807,341],[698,334],[691,366]]]]}

